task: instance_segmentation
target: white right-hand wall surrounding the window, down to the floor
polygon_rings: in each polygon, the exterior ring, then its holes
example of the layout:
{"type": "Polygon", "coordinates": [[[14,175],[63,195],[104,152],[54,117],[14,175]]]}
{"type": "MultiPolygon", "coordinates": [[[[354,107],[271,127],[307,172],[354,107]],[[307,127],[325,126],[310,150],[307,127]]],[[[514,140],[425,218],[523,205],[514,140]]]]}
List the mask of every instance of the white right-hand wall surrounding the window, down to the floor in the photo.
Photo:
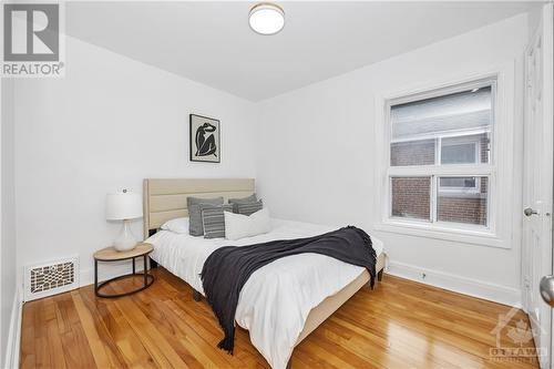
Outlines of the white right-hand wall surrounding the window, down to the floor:
{"type": "MultiPolygon", "coordinates": [[[[355,224],[373,230],[380,221],[376,192],[376,96],[430,80],[515,62],[513,114],[522,137],[522,55],[526,16],[474,30],[383,62],[267,100],[259,106],[258,192],[280,217],[355,224]]],[[[345,57],[347,58],[347,57],[345,57]]],[[[521,170],[521,140],[514,163],[521,170]]],[[[516,171],[519,173],[519,171],[516,171]]],[[[521,178],[514,196],[521,208],[521,178]]],[[[514,214],[510,249],[384,232],[391,273],[517,305],[521,215],[514,214]]]]}

